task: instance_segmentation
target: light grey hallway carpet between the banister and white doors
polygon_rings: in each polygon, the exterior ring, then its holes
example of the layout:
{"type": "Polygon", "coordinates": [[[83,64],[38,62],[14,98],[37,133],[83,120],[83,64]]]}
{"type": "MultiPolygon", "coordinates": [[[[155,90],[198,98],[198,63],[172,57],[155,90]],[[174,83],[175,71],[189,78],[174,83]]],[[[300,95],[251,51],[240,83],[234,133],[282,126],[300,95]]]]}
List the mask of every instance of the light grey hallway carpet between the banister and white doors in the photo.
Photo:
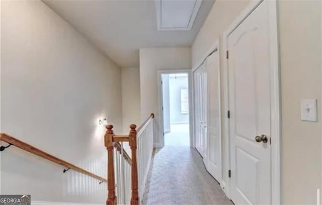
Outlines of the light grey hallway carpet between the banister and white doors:
{"type": "Polygon", "coordinates": [[[199,153],[187,146],[155,151],[143,204],[233,204],[206,171],[199,153]]]}

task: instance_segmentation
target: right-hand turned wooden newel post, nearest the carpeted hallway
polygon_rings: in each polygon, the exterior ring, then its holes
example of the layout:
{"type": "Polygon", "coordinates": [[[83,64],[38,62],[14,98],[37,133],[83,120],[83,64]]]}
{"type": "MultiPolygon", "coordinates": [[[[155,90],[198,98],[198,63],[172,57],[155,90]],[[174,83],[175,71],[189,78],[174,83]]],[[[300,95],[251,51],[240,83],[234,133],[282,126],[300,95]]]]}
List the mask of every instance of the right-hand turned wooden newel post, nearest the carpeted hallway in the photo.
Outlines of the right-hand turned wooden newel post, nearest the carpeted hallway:
{"type": "Polygon", "coordinates": [[[132,151],[132,166],[131,166],[131,178],[132,178],[132,197],[131,205],[137,205],[139,201],[138,194],[138,176],[137,176],[137,159],[136,159],[136,125],[130,125],[129,145],[132,151]]]}

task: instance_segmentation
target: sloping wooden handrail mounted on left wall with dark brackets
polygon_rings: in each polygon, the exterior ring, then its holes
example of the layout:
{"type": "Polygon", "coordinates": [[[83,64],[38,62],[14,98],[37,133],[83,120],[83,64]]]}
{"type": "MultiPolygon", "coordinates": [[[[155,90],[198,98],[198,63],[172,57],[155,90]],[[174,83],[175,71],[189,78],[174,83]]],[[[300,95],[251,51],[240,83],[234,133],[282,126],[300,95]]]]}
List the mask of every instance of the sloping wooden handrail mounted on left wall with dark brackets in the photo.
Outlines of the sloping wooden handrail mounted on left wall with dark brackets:
{"type": "Polygon", "coordinates": [[[25,142],[22,142],[22,141],[20,141],[20,140],[18,140],[16,138],[14,138],[13,136],[8,135],[8,134],[0,133],[0,140],[4,141],[6,143],[12,144],[12,145],[16,146],[17,148],[25,150],[25,151],[27,151],[29,153],[32,153],[32,154],[37,155],[39,157],[42,157],[42,158],[44,158],[46,160],[49,160],[49,161],[54,162],[56,164],[59,164],[59,165],[61,165],[63,167],[70,168],[70,169],[72,169],[74,171],[77,171],[77,172],[81,172],[81,173],[83,173],[85,175],[88,175],[90,177],[96,178],[96,179],[98,179],[100,181],[107,182],[107,179],[105,179],[103,177],[100,177],[100,176],[98,176],[96,174],[93,174],[93,173],[91,173],[89,171],[86,171],[85,169],[82,169],[82,168],[77,167],[77,166],[75,166],[73,164],[70,164],[70,163],[68,163],[68,162],[66,162],[64,160],[61,160],[61,159],[59,159],[57,157],[54,157],[54,156],[52,156],[52,155],[50,155],[50,154],[48,154],[48,153],[46,153],[46,152],[44,152],[42,150],[39,150],[38,148],[35,148],[35,147],[25,143],[25,142]]]}

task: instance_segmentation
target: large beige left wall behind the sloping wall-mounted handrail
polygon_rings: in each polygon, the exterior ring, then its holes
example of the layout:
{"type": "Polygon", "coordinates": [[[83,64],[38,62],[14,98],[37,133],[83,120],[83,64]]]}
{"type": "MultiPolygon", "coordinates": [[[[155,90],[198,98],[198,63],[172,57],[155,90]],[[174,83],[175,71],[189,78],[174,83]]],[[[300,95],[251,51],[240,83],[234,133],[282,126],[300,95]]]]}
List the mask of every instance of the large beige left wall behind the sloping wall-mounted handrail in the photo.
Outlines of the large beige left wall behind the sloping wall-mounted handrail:
{"type": "MultiPolygon", "coordinates": [[[[121,69],[41,1],[1,2],[1,131],[107,177],[98,119],[121,132],[121,69]]],[[[105,183],[17,148],[1,163],[3,194],[105,203],[105,183]]]]}

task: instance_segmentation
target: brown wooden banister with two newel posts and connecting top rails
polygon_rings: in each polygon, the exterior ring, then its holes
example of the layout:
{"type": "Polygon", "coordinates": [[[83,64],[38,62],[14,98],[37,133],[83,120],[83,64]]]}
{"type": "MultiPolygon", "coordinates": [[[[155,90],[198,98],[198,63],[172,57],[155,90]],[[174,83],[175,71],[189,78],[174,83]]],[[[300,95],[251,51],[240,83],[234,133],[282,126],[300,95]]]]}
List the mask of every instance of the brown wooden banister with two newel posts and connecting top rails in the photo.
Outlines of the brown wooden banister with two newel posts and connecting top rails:
{"type": "MultiPolygon", "coordinates": [[[[139,127],[138,130],[144,128],[145,124],[154,118],[154,114],[152,113],[148,119],[139,127]]],[[[116,148],[119,152],[121,152],[120,142],[128,142],[131,149],[131,159],[127,153],[123,150],[123,157],[126,160],[130,160],[131,164],[131,205],[139,204],[139,194],[138,194],[138,169],[137,169],[137,130],[136,125],[130,125],[130,132],[128,135],[115,135],[113,131],[113,125],[109,124],[106,126],[107,131],[104,136],[105,146],[107,149],[108,155],[108,198],[106,200],[107,205],[116,205],[117,204],[117,196],[115,191],[115,173],[114,173],[114,157],[113,157],[113,148],[116,148]]]]}

